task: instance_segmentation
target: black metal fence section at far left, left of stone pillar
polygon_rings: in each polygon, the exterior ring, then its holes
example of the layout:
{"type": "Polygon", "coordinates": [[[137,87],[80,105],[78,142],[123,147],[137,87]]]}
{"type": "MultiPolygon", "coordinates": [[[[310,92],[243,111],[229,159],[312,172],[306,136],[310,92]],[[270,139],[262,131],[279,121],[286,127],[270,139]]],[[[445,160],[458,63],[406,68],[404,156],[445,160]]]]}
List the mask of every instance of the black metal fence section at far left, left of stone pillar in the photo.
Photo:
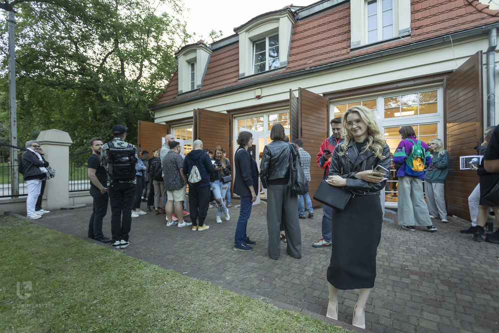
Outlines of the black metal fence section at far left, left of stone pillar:
{"type": "MultiPolygon", "coordinates": [[[[16,148],[17,154],[20,156],[26,148],[11,146],[9,144],[0,143],[0,198],[8,198],[12,196],[12,168],[13,165],[10,162],[10,148],[16,148]]],[[[19,161],[20,158],[17,158],[19,161]]],[[[22,181],[22,175],[19,173],[19,195],[18,196],[26,196],[28,195],[28,189],[26,183],[22,181]]]]}

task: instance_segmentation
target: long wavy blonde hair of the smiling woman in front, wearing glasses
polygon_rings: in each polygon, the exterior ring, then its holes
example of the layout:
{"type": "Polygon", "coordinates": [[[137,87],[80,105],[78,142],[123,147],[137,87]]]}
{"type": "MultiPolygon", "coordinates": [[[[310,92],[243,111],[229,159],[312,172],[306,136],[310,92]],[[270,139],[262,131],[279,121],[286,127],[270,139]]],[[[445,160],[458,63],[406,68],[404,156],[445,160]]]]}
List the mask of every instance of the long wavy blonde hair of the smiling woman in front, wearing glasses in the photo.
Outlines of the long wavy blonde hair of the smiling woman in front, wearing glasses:
{"type": "Polygon", "coordinates": [[[370,149],[374,152],[374,156],[380,159],[385,158],[386,156],[383,156],[385,139],[378,127],[373,111],[365,106],[353,106],[341,117],[341,126],[343,127],[345,141],[341,144],[341,151],[338,152],[338,155],[343,156],[345,154],[348,143],[353,139],[352,133],[346,128],[346,118],[349,114],[354,112],[357,112],[360,115],[360,118],[367,124],[367,145],[362,149],[361,153],[370,149]]]}

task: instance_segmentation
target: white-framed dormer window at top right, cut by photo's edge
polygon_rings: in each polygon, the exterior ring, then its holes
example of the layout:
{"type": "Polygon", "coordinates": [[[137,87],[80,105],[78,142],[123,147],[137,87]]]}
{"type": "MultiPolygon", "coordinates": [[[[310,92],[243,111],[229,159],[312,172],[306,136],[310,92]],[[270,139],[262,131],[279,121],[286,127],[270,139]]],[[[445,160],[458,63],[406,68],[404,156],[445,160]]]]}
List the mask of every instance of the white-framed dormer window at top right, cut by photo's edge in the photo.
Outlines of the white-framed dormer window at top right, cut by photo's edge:
{"type": "Polygon", "coordinates": [[[367,1],[367,42],[393,37],[392,0],[367,1]]]}

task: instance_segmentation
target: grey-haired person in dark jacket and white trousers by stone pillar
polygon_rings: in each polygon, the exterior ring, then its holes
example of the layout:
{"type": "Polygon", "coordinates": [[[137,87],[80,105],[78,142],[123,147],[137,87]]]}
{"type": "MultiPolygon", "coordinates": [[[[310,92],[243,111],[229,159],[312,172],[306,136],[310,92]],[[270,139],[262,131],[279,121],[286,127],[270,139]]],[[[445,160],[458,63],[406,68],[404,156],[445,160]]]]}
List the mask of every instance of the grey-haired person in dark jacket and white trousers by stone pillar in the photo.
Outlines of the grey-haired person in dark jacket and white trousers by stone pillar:
{"type": "Polygon", "coordinates": [[[41,180],[45,178],[48,162],[43,160],[36,152],[40,148],[37,141],[26,141],[24,145],[26,151],[22,153],[22,176],[28,187],[28,197],[26,198],[27,217],[33,220],[41,218],[36,214],[35,205],[41,190],[41,180]]]}

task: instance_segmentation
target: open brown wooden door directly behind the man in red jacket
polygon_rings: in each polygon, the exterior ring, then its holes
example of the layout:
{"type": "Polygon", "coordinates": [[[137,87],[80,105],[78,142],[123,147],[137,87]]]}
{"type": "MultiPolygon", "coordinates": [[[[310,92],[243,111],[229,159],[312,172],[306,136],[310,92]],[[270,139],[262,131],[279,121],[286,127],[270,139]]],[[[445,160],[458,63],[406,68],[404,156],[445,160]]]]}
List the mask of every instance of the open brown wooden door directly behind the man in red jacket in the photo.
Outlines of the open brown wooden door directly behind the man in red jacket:
{"type": "MultiPolygon", "coordinates": [[[[327,138],[329,121],[327,119],[327,98],[308,90],[299,88],[298,104],[300,116],[300,139],[303,140],[303,149],[310,154],[310,178],[308,193],[310,199],[319,187],[324,170],[315,163],[321,143],[327,138]]],[[[312,206],[321,203],[312,199],[312,206]]]]}

